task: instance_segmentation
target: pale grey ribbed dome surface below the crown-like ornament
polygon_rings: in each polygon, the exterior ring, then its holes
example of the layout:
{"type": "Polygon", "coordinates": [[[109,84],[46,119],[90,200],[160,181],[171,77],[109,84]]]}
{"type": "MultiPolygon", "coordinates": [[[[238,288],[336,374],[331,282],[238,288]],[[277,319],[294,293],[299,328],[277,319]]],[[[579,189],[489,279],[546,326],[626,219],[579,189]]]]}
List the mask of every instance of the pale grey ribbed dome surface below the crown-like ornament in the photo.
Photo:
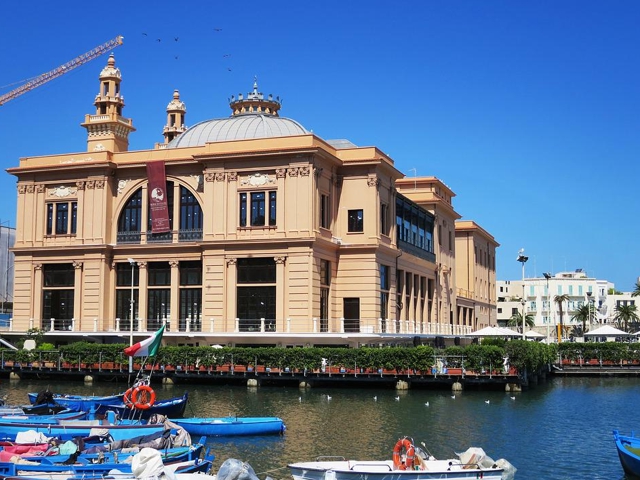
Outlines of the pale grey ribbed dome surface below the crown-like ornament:
{"type": "Polygon", "coordinates": [[[287,137],[308,133],[302,125],[290,118],[258,113],[234,115],[197,123],[169,142],[167,148],[197,147],[210,142],[287,137]]]}

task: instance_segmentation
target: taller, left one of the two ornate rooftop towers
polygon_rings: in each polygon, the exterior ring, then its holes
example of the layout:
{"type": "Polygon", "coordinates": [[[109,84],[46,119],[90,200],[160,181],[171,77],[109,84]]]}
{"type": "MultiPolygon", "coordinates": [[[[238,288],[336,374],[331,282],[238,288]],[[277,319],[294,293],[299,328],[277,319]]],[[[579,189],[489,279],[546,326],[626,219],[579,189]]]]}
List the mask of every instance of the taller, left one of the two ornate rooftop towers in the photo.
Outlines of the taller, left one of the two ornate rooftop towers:
{"type": "Polygon", "coordinates": [[[126,152],[129,133],[134,132],[133,121],[122,116],[124,97],[120,94],[122,75],[113,54],[100,72],[100,90],[94,105],[95,115],[85,115],[82,126],[87,129],[87,151],[126,152]]]}

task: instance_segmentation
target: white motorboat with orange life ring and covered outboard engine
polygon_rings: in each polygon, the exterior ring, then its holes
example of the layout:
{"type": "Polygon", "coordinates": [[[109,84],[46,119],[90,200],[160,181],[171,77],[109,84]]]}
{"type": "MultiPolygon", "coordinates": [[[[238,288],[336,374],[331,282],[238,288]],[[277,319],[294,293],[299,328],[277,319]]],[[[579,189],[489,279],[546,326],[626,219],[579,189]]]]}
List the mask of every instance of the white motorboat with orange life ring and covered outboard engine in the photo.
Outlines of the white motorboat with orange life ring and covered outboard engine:
{"type": "Polygon", "coordinates": [[[457,458],[436,460],[401,438],[389,460],[346,460],[321,457],[288,465],[294,480],[428,480],[435,478],[512,480],[516,468],[504,459],[494,461],[481,448],[469,448],[457,458]]]}

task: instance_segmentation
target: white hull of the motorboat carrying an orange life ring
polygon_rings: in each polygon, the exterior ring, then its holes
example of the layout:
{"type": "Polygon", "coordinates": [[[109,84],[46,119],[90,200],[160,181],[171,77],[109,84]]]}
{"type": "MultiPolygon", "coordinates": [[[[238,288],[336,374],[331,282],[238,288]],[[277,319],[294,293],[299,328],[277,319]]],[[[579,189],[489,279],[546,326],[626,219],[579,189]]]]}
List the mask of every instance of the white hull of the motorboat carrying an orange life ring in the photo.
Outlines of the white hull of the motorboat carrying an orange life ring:
{"type": "MultiPolygon", "coordinates": [[[[501,480],[501,468],[464,468],[457,460],[431,460],[427,470],[395,470],[388,461],[299,462],[289,465],[294,480],[501,480]]],[[[468,467],[468,466],[467,466],[468,467]]]]}

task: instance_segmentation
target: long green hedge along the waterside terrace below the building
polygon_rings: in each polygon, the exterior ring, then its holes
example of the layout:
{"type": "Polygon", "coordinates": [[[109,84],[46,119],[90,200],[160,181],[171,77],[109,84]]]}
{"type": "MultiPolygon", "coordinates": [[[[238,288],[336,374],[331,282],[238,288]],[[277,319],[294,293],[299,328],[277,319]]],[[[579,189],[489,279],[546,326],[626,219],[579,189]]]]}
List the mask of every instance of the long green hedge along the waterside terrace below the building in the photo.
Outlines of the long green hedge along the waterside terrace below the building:
{"type": "MultiPolygon", "coordinates": [[[[561,344],[560,348],[565,355],[576,356],[575,345],[586,346],[588,344],[561,344]]],[[[614,359],[622,353],[615,353],[616,345],[623,345],[624,355],[631,354],[626,344],[595,344],[599,352],[603,352],[603,346],[611,349],[606,358],[614,359]],[[609,347],[609,345],[611,345],[609,347]]],[[[46,361],[60,361],[71,365],[94,364],[99,362],[114,362],[116,364],[128,364],[129,359],[123,353],[127,347],[124,344],[95,344],[89,342],[77,342],[64,345],[57,351],[47,350],[2,350],[5,361],[12,360],[28,364],[37,361],[40,355],[46,355],[46,361]]],[[[157,365],[171,365],[182,367],[214,368],[221,365],[254,366],[262,365],[271,368],[309,371],[321,368],[322,359],[327,360],[327,365],[341,367],[348,370],[378,369],[396,370],[397,372],[429,372],[436,363],[436,357],[446,361],[449,368],[462,368],[466,370],[481,371],[502,367],[505,356],[509,357],[510,365],[522,371],[526,368],[530,372],[537,371],[546,365],[553,363],[557,358],[557,346],[545,345],[537,342],[512,340],[509,342],[483,342],[465,347],[448,347],[443,350],[435,350],[431,346],[418,347],[389,347],[389,348],[241,348],[241,347],[160,347],[155,358],[157,365]]],[[[634,358],[639,357],[634,350],[634,358]]],[[[583,355],[583,358],[586,358],[583,355]]],[[[593,357],[597,358],[597,357],[593,357]]],[[[143,359],[135,357],[134,361],[140,364],[143,359]]]]}

